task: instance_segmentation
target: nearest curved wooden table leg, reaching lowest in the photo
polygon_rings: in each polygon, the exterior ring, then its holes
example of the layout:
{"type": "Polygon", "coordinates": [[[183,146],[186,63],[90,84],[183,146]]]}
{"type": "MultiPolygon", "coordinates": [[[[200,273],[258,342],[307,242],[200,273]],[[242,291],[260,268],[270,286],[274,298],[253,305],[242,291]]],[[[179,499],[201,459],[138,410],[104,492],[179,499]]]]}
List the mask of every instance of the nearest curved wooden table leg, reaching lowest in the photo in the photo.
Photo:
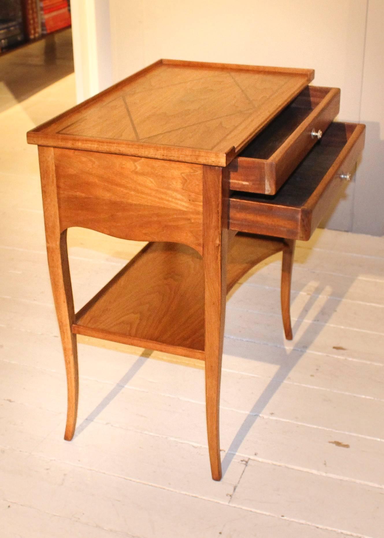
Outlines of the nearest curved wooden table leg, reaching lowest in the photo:
{"type": "Polygon", "coordinates": [[[220,480],[219,399],[226,300],[228,185],[225,170],[204,166],[205,400],[212,478],[220,480]]]}

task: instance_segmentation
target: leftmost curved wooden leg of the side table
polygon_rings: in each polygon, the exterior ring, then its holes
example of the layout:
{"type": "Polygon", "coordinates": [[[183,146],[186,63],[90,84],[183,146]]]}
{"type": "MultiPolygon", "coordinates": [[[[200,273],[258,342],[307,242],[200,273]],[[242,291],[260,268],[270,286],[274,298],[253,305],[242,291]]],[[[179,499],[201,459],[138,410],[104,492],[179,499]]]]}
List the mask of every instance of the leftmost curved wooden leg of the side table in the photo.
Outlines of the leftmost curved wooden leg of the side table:
{"type": "Polygon", "coordinates": [[[76,426],[79,372],[77,367],[76,335],[72,334],[71,330],[75,312],[68,264],[67,230],[60,233],[52,148],[39,147],[39,161],[49,275],[51,277],[52,293],[67,373],[68,408],[64,438],[70,441],[75,433],[76,426]]]}

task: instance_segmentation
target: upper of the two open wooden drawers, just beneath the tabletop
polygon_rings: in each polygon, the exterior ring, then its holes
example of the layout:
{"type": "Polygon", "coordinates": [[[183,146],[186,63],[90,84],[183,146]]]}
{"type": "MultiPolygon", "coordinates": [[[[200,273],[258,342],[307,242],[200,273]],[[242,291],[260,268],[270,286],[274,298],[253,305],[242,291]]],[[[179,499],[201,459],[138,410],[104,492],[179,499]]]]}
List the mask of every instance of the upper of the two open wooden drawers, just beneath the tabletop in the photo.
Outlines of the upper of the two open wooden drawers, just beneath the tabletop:
{"type": "Polygon", "coordinates": [[[338,88],[305,88],[231,162],[230,188],[260,194],[278,192],[335,119],[339,104],[338,88]]]}

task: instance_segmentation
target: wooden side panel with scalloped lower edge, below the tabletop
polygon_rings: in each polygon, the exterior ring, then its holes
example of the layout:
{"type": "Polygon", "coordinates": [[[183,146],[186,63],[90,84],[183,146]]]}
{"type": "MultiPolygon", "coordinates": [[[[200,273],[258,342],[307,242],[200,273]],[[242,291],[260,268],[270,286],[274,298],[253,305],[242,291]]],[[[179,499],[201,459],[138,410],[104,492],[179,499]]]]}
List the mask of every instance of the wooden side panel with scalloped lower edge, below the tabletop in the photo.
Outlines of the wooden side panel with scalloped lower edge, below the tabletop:
{"type": "Polygon", "coordinates": [[[202,252],[202,167],[55,148],[61,231],[175,241],[202,252]]]}

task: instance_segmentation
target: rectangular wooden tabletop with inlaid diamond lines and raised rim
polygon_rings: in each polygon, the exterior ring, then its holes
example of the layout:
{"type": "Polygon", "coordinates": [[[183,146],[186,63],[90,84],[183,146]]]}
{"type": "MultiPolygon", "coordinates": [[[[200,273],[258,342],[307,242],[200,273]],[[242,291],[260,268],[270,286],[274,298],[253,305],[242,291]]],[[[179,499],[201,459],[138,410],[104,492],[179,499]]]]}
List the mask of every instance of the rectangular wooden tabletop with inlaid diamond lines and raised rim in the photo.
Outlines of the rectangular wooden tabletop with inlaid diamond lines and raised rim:
{"type": "Polygon", "coordinates": [[[159,157],[167,153],[166,147],[178,147],[190,151],[177,160],[194,162],[194,150],[232,152],[233,158],[312,77],[310,69],[160,60],[68,111],[40,133],[49,131],[62,147],[66,139],[74,147],[76,138],[79,144],[126,143],[126,154],[140,154],[140,146],[163,146],[159,157]]]}

